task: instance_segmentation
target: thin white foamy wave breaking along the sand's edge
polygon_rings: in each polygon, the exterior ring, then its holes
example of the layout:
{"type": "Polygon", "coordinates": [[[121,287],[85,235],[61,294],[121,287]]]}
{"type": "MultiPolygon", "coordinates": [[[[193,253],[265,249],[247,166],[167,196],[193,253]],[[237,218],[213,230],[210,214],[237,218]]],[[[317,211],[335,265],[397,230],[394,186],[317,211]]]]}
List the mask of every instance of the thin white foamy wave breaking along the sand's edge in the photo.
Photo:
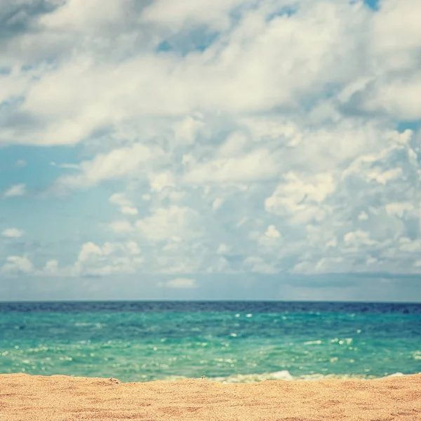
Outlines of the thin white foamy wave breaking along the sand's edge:
{"type": "MultiPolygon", "coordinates": [[[[204,380],[208,380],[210,382],[220,382],[224,384],[232,384],[232,383],[255,383],[255,382],[263,382],[265,380],[284,380],[284,381],[291,381],[291,380],[330,380],[330,379],[339,379],[339,380],[373,380],[385,377],[399,377],[404,375],[403,373],[393,373],[390,375],[376,377],[374,375],[357,375],[357,374],[307,374],[307,375],[299,375],[293,376],[290,374],[288,370],[283,371],[276,371],[274,373],[262,373],[262,374],[236,374],[236,375],[229,375],[226,377],[206,377],[203,376],[204,380]]],[[[170,376],[166,377],[166,381],[175,381],[175,380],[182,380],[187,377],[182,376],[170,376]]]]}

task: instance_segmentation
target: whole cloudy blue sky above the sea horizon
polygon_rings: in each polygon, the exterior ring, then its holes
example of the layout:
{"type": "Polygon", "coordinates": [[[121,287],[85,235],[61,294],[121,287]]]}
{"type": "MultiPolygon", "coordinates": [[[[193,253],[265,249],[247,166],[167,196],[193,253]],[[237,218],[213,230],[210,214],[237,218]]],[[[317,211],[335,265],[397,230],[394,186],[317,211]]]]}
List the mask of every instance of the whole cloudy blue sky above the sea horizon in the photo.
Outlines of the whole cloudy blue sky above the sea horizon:
{"type": "Polygon", "coordinates": [[[419,0],[0,0],[0,300],[421,301],[419,0]]]}

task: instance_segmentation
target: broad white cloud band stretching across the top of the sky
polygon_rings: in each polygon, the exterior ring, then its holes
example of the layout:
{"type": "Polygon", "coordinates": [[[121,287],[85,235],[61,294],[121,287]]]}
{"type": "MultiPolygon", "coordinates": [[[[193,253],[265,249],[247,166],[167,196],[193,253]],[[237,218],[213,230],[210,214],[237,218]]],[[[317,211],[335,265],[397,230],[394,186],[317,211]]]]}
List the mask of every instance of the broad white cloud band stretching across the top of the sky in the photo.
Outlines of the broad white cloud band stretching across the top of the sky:
{"type": "Polygon", "coordinates": [[[17,33],[4,47],[9,60],[14,49],[20,60],[39,62],[45,54],[58,63],[39,65],[37,77],[20,83],[24,99],[11,116],[25,116],[32,130],[13,126],[11,118],[3,133],[16,142],[73,144],[145,116],[297,110],[330,86],[349,92],[342,102],[355,102],[357,93],[363,108],[383,105],[396,114],[397,107],[401,118],[416,118],[410,94],[417,89],[420,48],[414,2],[383,1],[377,12],[360,3],[307,0],[216,1],[211,8],[188,1],[175,12],[166,0],[102,1],[98,8],[79,0],[50,4],[32,17],[38,31],[17,33]],[[215,34],[199,51],[191,41],[195,28],[215,34]],[[171,45],[168,53],[159,51],[164,42],[171,45]],[[183,48],[187,54],[180,54],[183,48]],[[396,60],[400,70],[412,72],[409,78],[383,65],[396,67],[396,60]],[[394,95],[400,89],[406,93],[394,95]]]}

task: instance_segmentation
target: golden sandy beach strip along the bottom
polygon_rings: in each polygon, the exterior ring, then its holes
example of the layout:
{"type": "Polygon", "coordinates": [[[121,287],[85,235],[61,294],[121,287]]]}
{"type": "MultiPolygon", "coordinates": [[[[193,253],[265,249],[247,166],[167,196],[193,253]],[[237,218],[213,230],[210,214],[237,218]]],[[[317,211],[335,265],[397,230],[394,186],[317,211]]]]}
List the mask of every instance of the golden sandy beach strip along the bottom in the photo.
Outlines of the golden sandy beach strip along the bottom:
{"type": "Polygon", "coordinates": [[[236,385],[0,375],[0,420],[420,421],[421,374],[236,385]]]}

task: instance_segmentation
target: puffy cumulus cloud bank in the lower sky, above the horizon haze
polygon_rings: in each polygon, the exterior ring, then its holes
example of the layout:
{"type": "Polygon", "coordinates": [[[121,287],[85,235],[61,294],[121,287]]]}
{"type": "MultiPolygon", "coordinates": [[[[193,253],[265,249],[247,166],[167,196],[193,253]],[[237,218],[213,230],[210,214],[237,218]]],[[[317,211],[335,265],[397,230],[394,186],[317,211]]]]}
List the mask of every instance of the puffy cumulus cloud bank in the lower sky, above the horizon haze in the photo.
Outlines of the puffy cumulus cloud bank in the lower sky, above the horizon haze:
{"type": "MultiPolygon", "coordinates": [[[[360,122],[354,121],[354,127],[360,122]]],[[[206,116],[203,124],[206,128],[206,116]]],[[[250,118],[248,124],[252,126],[250,118]]],[[[312,138],[302,121],[297,121],[290,131],[280,131],[290,136],[302,133],[300,142],[286,149],[290,138],[281,134],[278,140],[267,134],[274,131],[273,126],[267,131],[260,127],[260,138],[242,127],[252,142],[251,146],[247,143],[246,154],[247,148],[255,150],[256,144],[283,151],[276,155],[281,170],[274,180],[183,184],[178,175],[186,168],[181,162],[185,151],[173,151],[180,161],[168,159],[162,166],[159,163],[156,171],[142,172],[140,178],[136,172],[122,176],[119,182],[128,181],[126,192],[109,197],[109,202],[122,212],[126,206],[142,213],[135,222],[132,218],[109,222],[121,244],[135,239],[142,246],[142,263],[127,257],[127,246],[116,246],[115,260],[93,241],[89,259],[83,260],[82,253],[81,260],[76,259],[77,265],[59,267],[58,273],[108,276],[121,271],[184,276],[220,272],[417,272],[412,251],[415,243],[399,242],[399,238],[414,237],[410,230],[419,221],[419,166],[414,158],[416,143],[412,133],[375,129],[370,134],[373,140],[368,142],[369,154],[361,154],[363,148],[349,152],[344,147],[343,153],[335,149],[336,154],[326,160],[326,148],[335,135],[342,133],[337,127],[324,126],[325,135],[316,135],[307,154],[312,138]],[[326,171],[319,171],[321,164],[314,162],[318,156],[324,159],[326,171]],[[290,171],[291,165],[300,171],[290,171]],[[173,186],[150,189],[151,174],[173,175],[173,186]],[[173,194],[179,194],[176,205],[173,194]],[[222,202],[223,208],[215,212],[222,202]]],[[[360,129],[354,133],[360,133],[360,129]]],[[[220,147],[212,149],[208,140],[203,142],[192,149],[193,167],[219,159],[215,156],[219,156],[220,147]]]]}

